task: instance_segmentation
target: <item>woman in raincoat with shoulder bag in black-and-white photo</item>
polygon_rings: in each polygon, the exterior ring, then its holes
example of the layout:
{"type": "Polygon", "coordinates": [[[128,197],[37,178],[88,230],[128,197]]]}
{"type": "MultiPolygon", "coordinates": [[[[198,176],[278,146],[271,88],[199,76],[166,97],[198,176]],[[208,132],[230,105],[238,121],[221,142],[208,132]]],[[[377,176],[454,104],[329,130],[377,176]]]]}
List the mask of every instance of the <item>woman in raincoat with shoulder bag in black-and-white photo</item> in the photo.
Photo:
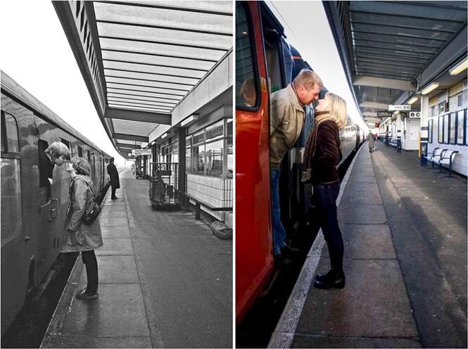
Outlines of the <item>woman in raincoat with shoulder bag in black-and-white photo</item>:
{"type": "Polygon", "coordinates": [[[79,299],[96,299],[98,297],[98,263],[94,249],[103,245],[99,220],[85,224],[88,208],[94,205],[92,190],[91,167],[84,158],[72,158],[67,164],[67,171],[72,177],[70,183],[70,198],[65,217],[66,241],[61,252],[81,251],[82,260],[86,265],[87,287],[77,293],[79,299]]]}

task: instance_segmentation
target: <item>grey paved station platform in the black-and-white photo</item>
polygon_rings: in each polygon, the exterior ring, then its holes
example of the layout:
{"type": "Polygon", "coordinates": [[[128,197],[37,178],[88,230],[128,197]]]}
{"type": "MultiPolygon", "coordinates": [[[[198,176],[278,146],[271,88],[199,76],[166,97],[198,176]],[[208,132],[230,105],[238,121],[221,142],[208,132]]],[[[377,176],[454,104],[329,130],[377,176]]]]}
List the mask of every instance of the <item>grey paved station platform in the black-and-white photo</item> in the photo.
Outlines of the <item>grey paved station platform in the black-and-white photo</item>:
{"type": "Polygon", "coordinates": [[[99,216],[99,298],[75,298],[79,257],[41,348],[232,348],[232,241],[194,212],[151,210],[131,171],[120,182],[99,216]]]}

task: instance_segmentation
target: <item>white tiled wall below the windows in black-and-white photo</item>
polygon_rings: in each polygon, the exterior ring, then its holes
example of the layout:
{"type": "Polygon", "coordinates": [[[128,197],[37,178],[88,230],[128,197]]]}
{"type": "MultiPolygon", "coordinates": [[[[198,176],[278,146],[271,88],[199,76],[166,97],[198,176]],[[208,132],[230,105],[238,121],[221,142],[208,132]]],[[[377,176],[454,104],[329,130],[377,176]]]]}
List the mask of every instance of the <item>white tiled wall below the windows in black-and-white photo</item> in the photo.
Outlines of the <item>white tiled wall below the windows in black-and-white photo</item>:
{"type": "MultiPolygon", "coordinates": [[[[232,179],[187,174],[187,193],[215,207],[232,207],[232,179]]],[[[232,227],[232,213],[202,209],[232,227]]]]}

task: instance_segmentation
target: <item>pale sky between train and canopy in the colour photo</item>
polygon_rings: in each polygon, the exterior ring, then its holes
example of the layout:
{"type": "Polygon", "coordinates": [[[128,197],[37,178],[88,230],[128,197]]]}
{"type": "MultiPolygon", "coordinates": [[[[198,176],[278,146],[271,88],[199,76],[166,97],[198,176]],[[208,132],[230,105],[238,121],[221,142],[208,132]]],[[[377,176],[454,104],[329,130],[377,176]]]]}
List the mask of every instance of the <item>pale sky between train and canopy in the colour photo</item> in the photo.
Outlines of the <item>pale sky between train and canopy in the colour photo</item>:
{"type": "Polygon", "coordinates": [[[284,26],[289,43],[308,61],[327,89],[346,101],[353,122],[367,128],[346,81],[322,1],[267,1],[267,4],[284,26]]]}

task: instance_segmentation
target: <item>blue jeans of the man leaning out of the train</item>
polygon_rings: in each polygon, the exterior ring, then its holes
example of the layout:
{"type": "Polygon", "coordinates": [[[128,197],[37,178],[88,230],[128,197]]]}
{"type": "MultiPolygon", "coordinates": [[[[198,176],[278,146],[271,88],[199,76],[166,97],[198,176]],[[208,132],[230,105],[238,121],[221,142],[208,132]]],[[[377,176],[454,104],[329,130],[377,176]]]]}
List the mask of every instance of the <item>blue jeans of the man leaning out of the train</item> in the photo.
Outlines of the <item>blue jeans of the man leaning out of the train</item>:
{"type": "Polygon", "coordinates": [[[273,251],[274,255],[281,254],[282,248],[286,247],[286,230],[281,222],[279,209],[279,174],[281,170],[270,170],[270,188],[272,191],[272,220],[273,220],[273,251]]]}

